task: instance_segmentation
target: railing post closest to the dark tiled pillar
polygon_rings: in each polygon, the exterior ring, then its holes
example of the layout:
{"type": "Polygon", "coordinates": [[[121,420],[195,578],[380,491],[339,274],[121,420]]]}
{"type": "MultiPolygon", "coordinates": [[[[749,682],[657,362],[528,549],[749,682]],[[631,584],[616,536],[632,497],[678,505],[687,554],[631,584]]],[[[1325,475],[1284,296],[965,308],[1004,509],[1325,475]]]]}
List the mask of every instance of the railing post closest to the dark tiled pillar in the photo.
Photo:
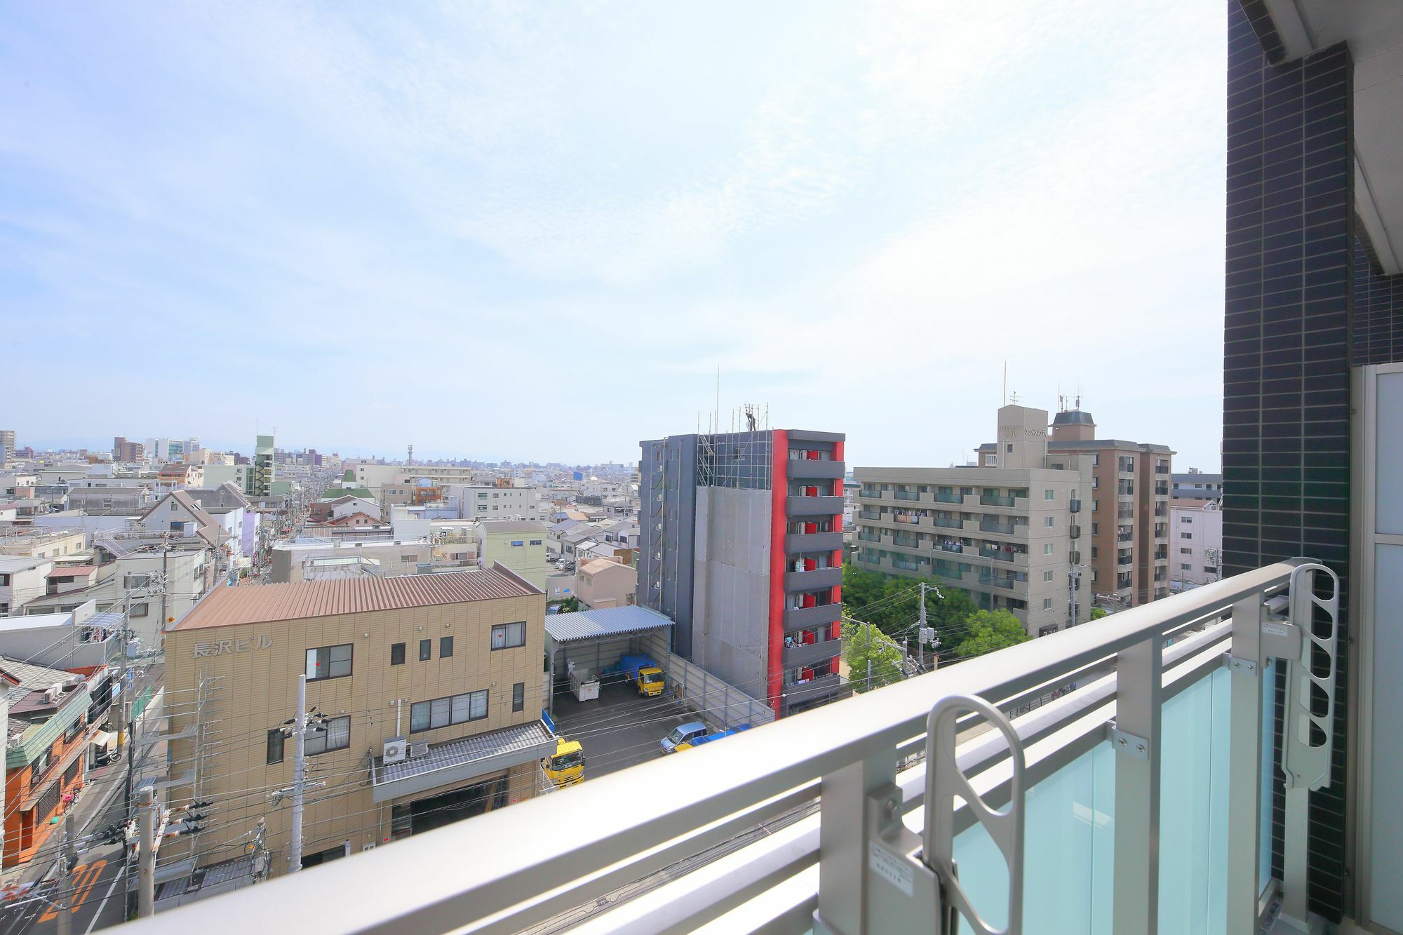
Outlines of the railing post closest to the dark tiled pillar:
{"type": "Polygon", "coordinates": [[[1228,931],[1257,929],[1261,880],[1261,618],[1260,595],[1232,608],[1232,710],[1228,733],[1228,931]]]}

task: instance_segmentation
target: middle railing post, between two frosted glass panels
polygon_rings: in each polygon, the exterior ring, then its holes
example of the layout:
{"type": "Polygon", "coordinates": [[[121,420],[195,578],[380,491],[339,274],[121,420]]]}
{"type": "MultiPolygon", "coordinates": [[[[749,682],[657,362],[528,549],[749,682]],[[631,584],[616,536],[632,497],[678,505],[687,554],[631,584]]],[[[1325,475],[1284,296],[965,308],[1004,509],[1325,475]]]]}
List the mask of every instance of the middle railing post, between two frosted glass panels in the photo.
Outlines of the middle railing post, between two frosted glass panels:
{"type": "Polygon", "coordinates": [[[1115,657],[1115,872],[1113,925],[1146,935],[1159,925],[1159,723],[1163,639],[1115,657]]]}

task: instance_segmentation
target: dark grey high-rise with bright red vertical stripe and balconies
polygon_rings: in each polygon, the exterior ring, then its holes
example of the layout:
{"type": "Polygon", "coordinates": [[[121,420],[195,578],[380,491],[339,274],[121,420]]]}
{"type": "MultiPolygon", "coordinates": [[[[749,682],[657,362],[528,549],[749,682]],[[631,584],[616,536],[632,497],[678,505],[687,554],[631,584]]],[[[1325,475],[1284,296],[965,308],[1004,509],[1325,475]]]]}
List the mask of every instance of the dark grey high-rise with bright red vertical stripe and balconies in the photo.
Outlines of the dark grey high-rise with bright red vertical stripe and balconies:
{"type": "Polygon", "coordinates": [[[758,430],[641,442],[638,602],[672,649],[787,715],[843,691],[843,441],[758,430]]]}

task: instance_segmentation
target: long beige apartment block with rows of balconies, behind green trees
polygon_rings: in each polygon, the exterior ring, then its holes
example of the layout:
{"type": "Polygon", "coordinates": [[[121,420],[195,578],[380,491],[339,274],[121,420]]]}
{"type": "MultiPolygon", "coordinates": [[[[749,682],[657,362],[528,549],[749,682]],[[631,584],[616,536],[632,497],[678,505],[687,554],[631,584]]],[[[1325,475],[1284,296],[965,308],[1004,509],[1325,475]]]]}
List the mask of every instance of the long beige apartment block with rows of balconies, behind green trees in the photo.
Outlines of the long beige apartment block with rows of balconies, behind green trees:
{"type": "Polygon", "coordinates": [[[961,588],[1034,636],[1085,623],[1092,459],[1051,459],[1041,409],[1005,406],[998,428],[998,468],[856,468],[854,562],[961,588]]]}

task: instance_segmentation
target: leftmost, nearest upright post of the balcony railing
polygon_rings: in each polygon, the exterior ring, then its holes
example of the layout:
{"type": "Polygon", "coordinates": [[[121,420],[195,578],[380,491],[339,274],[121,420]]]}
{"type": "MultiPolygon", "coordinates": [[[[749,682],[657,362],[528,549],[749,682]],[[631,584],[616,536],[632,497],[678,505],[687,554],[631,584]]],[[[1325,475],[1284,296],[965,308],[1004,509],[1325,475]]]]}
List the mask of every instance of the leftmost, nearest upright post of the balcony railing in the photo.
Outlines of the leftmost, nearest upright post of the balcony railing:
{"type": "Polygon", "coordinates": [[[870,793],[897,781],[897,751],[882,750],[826,774],[819,786],[818,911],[814,929],[861,935],[867,918],[867,841],[875,816],[870,793]]]}

